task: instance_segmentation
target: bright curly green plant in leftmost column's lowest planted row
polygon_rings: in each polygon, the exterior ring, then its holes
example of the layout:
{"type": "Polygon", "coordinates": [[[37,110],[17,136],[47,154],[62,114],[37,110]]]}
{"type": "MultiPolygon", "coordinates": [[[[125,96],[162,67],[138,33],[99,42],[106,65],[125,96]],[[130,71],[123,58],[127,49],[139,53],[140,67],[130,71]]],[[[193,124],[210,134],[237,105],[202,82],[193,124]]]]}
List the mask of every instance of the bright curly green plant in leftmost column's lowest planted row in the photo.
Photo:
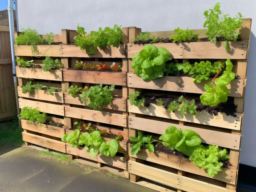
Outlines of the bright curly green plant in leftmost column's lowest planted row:
{"type": "Polygon", "coordinates": [[[45,123],[46,122],[46,113],[42,112],[40,114],[40,111],[36,108],[32,109],[31,107],[23,107],[23,110],[18,115],[19,119],[26,119],[29,123],[45,123]]]}

